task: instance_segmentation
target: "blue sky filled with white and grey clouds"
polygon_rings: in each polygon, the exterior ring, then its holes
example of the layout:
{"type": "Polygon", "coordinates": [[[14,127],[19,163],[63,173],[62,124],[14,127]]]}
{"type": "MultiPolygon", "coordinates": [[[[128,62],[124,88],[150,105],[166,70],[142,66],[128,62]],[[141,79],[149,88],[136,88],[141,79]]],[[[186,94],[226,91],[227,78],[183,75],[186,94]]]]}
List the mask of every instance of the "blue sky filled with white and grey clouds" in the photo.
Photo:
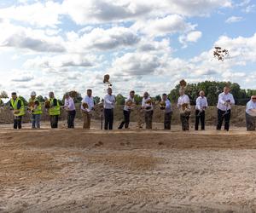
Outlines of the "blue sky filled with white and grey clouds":
{"type": "Polygon", "coordinates": [[[114,95],[183,78],[256,89],[255,20],[256,0],[0,0],[0,91],[102,96],[107,73],[114,95]]]}

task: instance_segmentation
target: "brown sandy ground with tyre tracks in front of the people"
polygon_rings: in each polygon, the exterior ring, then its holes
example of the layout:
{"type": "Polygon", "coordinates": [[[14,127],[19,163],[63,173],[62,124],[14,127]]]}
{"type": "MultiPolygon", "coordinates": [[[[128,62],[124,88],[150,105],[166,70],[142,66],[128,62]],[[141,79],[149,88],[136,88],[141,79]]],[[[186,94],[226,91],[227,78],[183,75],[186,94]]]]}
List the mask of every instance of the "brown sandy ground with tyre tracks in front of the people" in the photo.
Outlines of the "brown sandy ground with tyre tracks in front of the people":
{"type": "Polygon", "coordinates": [[[256,132],[25,126],[0,126],[0,212],[256,212],[256,132]]]}

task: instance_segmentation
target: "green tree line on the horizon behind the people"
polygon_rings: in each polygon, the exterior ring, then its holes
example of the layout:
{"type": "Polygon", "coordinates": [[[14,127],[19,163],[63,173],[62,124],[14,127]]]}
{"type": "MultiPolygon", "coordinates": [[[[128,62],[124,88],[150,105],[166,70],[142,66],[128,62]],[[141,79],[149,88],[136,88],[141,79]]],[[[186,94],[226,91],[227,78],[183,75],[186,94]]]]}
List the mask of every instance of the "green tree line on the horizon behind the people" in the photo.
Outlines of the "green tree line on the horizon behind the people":
{"type": "MultiPolygon", "coordinates": [[[[201,90],[205,91],[208,104],[209,106],[214,106],[218,102],[218,95],[223,92],[223,89],[225,86],[229,86],[231,89],[231,93],[234,96],[234,99],[236,101],[236,105],[246,105],[247,101],[250,100],[251,95],[256,94],[256,89],[241,89],[240,85],[238,83],[231,83],[231,82],[216,82],[216,81],[204,81],[200,83],[188,83],[186,87],[186,94],[189,95],[190,98],[190,104],[195,105],[195,100],[199,95],[199,92],[201,90]]],[[[176,103],[177,99],[179,97],[179,84],[175,86],[174,89],[172,89],[167,95],[168,98],[172,101],[172,103],[176,103]]],[[[82,95],[77,92],[77,91],[70,91],[71,94],[73,94],[73,100],[75,103],[80,103],[82,101],[82,95]]],[[[0,93],[0,98],[8,98],[9,95],[5,92],[2,91],[0,93]]],[[[20,96],[20,98],[24,101],[25,105],[28,104],[28,101],[20,96]]],[[[38,101],[44,102],[48,98],[43,97],[42,95],[37,96],[38,101]]],[[[116,95],[116,103],[117,105],[124,105],[125,104],[125,96],[118,94],[116,95]]],[[[137,105],[141,104],[143,100],[143,96],[141,95],[135,95],[134,97],[135,102],[137,105]]],[[[161,100],[161,95],[156,95],[152,97],[153,101],[160,101],[161,100]]],[[[64,104],[64,95],[60,101],[60,104],[64,104]]],[[[94,97],[95,103],[101,102],[101,98],[99,96],[94,97]]]]}

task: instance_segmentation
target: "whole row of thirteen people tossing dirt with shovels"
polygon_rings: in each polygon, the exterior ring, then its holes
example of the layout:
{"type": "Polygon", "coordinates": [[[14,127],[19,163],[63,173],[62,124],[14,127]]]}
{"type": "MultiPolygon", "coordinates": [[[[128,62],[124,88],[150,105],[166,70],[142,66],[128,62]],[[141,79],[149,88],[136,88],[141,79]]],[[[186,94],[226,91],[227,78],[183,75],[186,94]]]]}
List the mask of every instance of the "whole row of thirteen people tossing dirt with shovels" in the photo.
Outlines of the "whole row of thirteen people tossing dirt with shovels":
{"type": "MultiPolygon", "coordinates": [[[[182,130],[189,130],[189,118],[191,114],[189,96],[185,95],[184,89],[179,90],[179,98],[177,100],[177,107],[180,112],[180,121],[182,124],[182,130]]],[[[135,91],[131,91],[127,99],[125,99],[125,107],[123,109],[124,120],[119,124],[119,129],[129,128],[130,115],[134,107],[136,107],[135,91]]],[[[218,95],[218,122],[217,130],[221,130],[224,122],[224,130],[230,130],[230,116],[231,107],[235,105],[235,100],[232,94],[230,94],[230,88],[224,87],[224,92],[218,95]]],[[[112,94],[112,89],[108,88],[108,94],[103,99],[103,114],[104,114],[104,130],[113,130],[113,109],[115,107],[115,97],[112,94]]],[[[201,130],[205,130],[205,117],[206,109],[208,107],[207,97],[204,91],[200,91],[199,97],[196,99],[195,105],[195,130],[199,130],[199,123],[201,122],[201,130]]],[[[14,113],[14,128],[21,129],[22,117],[26,114],[24,102],[14,92],[10,100],[10,108],[14,113]]],[[[58,120],[61,114],[61,105],[55,98],[53,92],[49,92],[49,101],[45,102],[46,111],[49,112],[50,126],[51,128],[58,127],[58,120]]],[[[67,110],[67,127],[74,128],[74,118],[76,115],[76,108],[73,98],[67,93],[65,95],[65,103],[62,107],[67,110]]],[[[92,96],[92,90],[87,89],[87,95],[81,103],[81,112],[84,119],[84,129],[90,129],[90,119],[92,112],[94,111],[95,103],[92,96]]],[[[162,95],[162,101],[160,102],[160,108],[164,111],[164,129],[171,130],[172,120],[172,104],[166,94],[162,95]]],[[[31,93],[29,100],[28,111],[32,114],[32,128],[40,128],[40,118],[42,111],[42,103],[38,101],[36,93],[31,93]]],[[[144,122],[146,129],[152,129],[152,120],[154,114],[154,102],[149,96],[148,92],[143,95],[142,107],[140,114],[144,112],[144,122]]],[[[255,130],[256,128],[256,95],[251,97],[251,100],[247,102],[246,109],[246,122],[247,130],[255,130]]],[[[141,125],[139,124],[139,127],[141,125]]]]}

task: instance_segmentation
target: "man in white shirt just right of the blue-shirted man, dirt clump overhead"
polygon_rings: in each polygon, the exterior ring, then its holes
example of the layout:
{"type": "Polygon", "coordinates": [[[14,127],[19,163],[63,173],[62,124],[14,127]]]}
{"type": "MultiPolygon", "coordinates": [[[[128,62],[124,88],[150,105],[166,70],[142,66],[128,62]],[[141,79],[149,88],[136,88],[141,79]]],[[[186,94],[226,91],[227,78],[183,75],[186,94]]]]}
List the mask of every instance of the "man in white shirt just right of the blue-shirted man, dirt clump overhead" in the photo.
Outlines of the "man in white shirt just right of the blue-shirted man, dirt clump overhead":
{"type": "Polygon", "coordinates": [[[177,100],[177,108],[180,111],[180,120],[182,123],[182,130],[189,130],[189,117],[190,117],[190,101],[189,96],[185,95],[184,89],[179,89],[179,98],[177,100]]]}

